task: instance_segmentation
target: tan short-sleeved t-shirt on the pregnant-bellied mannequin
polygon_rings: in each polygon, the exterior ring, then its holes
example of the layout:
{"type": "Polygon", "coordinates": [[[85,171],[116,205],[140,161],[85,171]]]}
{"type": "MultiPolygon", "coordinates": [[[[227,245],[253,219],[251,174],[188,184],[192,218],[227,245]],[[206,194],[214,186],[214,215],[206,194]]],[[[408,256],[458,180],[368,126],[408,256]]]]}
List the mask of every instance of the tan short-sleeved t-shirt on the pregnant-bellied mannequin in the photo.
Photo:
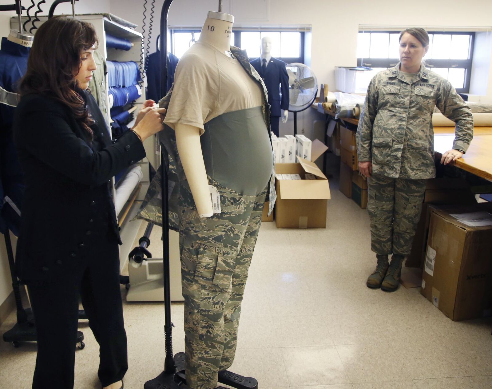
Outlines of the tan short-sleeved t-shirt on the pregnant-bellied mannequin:
{"type": "Polygon", "coordinates": [[[201,135],[203,124],[222,113],[262,104],[261,86],[238,60],[197,41],[178,62],[164,123],[172,129],[178,123],[198,127],[201,135]]]}

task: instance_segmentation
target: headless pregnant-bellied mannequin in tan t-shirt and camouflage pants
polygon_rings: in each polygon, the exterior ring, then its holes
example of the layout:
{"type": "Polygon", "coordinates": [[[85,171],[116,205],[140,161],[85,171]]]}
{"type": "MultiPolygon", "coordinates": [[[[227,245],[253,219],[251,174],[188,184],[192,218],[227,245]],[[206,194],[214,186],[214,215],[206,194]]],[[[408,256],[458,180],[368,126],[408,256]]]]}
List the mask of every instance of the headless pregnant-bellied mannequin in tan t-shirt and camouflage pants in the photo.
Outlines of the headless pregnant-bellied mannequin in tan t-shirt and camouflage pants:
{"type": "Polygon", "coordinates": [[[246,53],[230,47],[233,21],[209,12],[198,41],[178,63],[165,118],[185,176],[178,213],[191,389],[215,388],[218,371],[234,359],[274,167],[266,89],[246,53]]]}

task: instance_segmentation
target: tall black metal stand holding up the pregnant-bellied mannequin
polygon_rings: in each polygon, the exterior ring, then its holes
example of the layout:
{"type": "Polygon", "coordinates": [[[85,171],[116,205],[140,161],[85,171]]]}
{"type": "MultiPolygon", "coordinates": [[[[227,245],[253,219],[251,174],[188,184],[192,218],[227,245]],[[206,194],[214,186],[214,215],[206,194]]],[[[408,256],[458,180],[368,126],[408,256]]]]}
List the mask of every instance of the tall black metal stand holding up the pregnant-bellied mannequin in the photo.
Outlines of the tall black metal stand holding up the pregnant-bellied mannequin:
{"type": "MultiPolygon", "coordinates": [[[[160,16],[160,70],[161,70],[161,96],[166,95],[167,91],[167,14],[173,0],[164,0],[160,16]]],[[[218,11],[222,12],[222,0],[219,0],[218,11]]],[[[167,178],[168,157],[165,147],[161,144],[161,193],[169,193],[167,178]]],[[[185,354],[178,353],[173,355],[173,337],[172,330],[174,324],[171,322],[171,292],[169,276],[169,214],[168,197],[162,198],[162,254],[164,267],[164,339],[165,339],[165,360],[164,371],[153,380],[147,381],[144,389],[184,389],[188,388],[185,381],[185,354]]],[[[222,370],[218,373],[218,382],[237,389],[257,389],[258,381],[251,377],[243,377],[239,374],[232,373],[228,370],[222,370]]],[[[224,387],[219,387],[224,388],[224,387]]],[[[224,388],[225,389],[225,388],[224,388]]]]}

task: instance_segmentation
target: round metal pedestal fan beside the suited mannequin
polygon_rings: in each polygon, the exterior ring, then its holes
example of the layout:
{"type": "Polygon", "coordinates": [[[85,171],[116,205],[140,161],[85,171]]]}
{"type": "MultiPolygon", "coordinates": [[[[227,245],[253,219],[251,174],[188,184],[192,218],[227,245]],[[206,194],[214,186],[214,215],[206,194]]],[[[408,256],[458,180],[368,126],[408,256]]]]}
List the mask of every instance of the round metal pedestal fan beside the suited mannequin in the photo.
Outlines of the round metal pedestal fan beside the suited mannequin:
{"type": "Polygon", "coordinates": [[[294,112],[294,135],[297,135],[297,112],[314,103],[318,80],[307,65],[294,62],[285,66],[289,75],[289,111],[294,112]]]}

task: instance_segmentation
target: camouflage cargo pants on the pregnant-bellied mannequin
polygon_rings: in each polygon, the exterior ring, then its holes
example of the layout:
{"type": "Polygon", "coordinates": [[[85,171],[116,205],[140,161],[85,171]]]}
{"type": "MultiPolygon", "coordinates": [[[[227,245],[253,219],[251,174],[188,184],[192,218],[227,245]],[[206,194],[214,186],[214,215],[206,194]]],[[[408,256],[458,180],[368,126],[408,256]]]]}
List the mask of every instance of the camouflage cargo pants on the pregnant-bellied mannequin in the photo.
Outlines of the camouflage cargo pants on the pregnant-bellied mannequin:
{"type": "MultiPolygon", "coordinates": [[[[186,382],[191,389],[215,388],[219,370],[234,360],[241,302],[267,193],[265,188],[257,196],[241,195],[210,177],[209,182],[219,191],[222,212],[209,218],[199,218],[194,207],[180,212],[186,382]]],[[[186,204],[190,194],[184,191],[181,200],[186,204]]]]}

